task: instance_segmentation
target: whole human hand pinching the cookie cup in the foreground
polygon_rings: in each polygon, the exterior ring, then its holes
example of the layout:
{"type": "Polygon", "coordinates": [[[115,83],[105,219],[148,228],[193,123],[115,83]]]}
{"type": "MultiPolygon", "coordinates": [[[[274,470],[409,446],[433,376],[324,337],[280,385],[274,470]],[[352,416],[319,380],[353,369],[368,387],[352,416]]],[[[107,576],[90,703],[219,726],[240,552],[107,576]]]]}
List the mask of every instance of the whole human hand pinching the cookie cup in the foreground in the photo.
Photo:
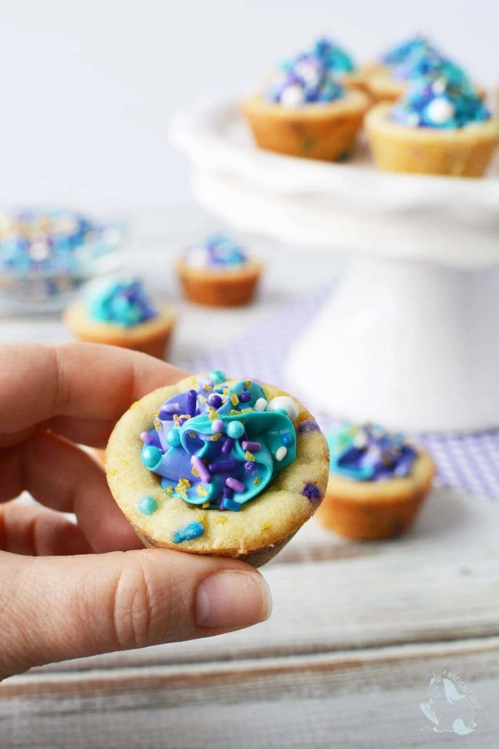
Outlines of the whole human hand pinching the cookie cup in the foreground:
{"type": "Polygon", "coordinates": [[[94,344],[0,344],[0,362],[0,681],[269,616],[269,589],[249,565],[142,548],[77,444],[104,447],[134,401],[185,372],[94,344]],[[37,504],[10,501],[23,490],[37,504]]]}

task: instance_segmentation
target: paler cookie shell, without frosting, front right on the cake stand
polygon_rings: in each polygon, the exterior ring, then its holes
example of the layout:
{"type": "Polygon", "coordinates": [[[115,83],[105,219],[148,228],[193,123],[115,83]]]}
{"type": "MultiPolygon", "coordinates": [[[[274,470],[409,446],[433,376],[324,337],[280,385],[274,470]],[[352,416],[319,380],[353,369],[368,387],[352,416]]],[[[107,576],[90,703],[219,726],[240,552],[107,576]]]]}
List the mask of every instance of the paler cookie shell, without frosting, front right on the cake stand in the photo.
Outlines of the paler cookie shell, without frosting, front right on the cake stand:
{"type": "Polygon", "coordinates": [[[499,118],[456,130],[405,127],[391,121],[392,105],[367,113],[365,126],[373,159],[385,172],[483,177],[499,143],[499,118]]]}

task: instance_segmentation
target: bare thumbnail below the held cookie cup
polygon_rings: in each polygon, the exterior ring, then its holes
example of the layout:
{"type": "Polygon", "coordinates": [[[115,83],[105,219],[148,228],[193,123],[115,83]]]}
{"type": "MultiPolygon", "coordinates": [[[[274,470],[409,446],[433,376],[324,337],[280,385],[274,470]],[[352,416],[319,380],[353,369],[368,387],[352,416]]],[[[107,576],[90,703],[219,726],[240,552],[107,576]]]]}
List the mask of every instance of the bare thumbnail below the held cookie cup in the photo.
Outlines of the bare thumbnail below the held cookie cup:
{"type": "Polygon", "coordinates": [[[215,572],[204,577],[198,586],[198,627],[249,627],[265,622],[271,612],[269,586],[257,572],[215,572]]]}

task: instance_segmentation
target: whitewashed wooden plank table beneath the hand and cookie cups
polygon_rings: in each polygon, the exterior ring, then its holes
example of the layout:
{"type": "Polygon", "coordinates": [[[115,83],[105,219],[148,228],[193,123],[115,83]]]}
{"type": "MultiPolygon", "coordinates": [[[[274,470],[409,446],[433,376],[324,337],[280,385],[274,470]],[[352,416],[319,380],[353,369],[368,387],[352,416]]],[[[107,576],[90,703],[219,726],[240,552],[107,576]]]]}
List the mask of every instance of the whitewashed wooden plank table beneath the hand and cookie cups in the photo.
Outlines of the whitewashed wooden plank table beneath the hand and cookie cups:
{"type": "MultiPolygon", "coordinates": [[[[206,219],[197,220],[198,230],[206,219]]],[[[154,236],[137,233],[150,252],[185,240],[159,226],[154,236]]],[[[257,321],[337,269],[335,259],[325,267],[324,258],[315,264],[308,255],[303,281],[299,255],[287,258],[283,273],[281,255],[271,247],[264,254],[260,306],[237,312],[236,321],[210,312],[219,324],[204,326],[213,337],[201,344],[195,328],[205,312],[183,307],[173,359],[184,346],[227,342],[243,319],[257,321]]],[[[166,262],[164,283],[174,296],[166,262]]],[[[58,321],[0,320],[0,338],[65,336],[58,321]]],[[[310,521],[263,568],[274,596],[268,622],[7,679],[0,747],[495,748],[498,529],[499,504],[444,489],[432,492],[414,529],[395,542],[343,542],[310,521]],[[483,706],[469,736],[425,728],[420,703],[432,673],[444,669],[459,674],[483,706]]]]}

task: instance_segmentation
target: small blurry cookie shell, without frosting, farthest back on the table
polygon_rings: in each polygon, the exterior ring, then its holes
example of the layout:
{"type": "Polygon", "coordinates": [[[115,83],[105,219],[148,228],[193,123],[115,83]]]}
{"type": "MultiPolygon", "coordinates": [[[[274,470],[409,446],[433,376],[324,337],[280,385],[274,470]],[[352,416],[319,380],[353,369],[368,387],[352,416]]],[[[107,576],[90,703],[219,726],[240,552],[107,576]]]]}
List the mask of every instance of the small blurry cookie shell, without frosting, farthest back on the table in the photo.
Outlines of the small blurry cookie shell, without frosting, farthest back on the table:
{"type": "Polygon", "coordinates": [[[177,273],[184,297],[211,307],[235,307],[254,299],[262,264],[249,261],[234,270],[211,270],[177,262],[177,273]]]}

